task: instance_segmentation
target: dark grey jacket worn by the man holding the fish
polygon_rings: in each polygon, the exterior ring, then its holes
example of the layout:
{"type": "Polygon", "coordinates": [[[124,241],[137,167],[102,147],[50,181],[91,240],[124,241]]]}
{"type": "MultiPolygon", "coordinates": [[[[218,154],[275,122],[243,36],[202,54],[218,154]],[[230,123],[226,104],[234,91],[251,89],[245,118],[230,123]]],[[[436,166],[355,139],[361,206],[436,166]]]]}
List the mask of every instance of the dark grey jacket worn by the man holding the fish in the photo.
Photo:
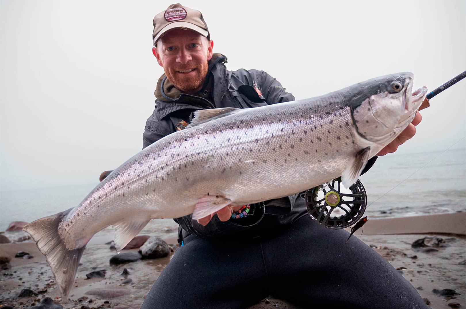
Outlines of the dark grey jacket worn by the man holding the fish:
{"type": "MultiPolygon", "coordinates": [[[[215,54],[209,62],[206,84],[197,95],[182,94],[162,75],[155,92],[155,110],[147,119],[143,134],[143,148],[177,130],[180,121],[191,120],[192,112],[198,109],[219,107],[258,107],[267,104],[294,101],[295,97],[285,91],[281,84],[264,71],[245,70],[228,71],[226,57],[215,54]],[[261,95],[255,90],[260,89],[261,95]]],[[[375,161],[375,159],[374,159],[375,161]]],[[[372,162],[373,164],[373,162],[372,162]]],[[[368,167],[372,164],[368,164],[368,167]]],[[[365,170],[367,170],[366,168],[365,170]]],[[[252,226],[274,228],[291,224],[307,210],[303,201],[295,205],[298,194],[281,199],[260,202],[251,205],[253,215],[246,218],[219,221],[214,216],[209,224],[202,226],[191,220],[191,215],[175,219],[183,228],[178,234],[178,241],[189,234],[202,237],[217,237],[245,230],[252,226]]],[[[302,199],[302,197],[299,197],[302,199]]]]}

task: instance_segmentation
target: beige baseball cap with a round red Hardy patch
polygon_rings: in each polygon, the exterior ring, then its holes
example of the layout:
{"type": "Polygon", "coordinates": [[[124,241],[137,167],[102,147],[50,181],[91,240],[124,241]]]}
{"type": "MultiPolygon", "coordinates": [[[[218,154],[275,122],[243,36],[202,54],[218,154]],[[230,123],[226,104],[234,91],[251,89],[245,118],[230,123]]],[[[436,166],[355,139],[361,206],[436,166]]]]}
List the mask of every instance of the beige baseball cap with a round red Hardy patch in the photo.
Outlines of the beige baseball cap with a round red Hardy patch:
{"type": "Polygon", "coordinates": [[[152,43],[154,46],[158,39],[173,29],[190,29],[210,40],[209,29],[202,13],[179,3],[172,4],[165,11],[155,15],[153,24],[152,43]]]}

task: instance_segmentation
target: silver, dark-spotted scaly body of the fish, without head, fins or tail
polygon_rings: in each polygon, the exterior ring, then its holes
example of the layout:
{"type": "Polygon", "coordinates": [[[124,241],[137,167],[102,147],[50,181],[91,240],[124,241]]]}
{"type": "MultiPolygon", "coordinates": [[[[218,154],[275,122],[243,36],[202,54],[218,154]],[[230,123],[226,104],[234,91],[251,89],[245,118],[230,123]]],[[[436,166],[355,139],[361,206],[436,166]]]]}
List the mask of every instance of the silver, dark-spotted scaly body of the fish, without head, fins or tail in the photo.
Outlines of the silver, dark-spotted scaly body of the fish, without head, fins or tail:
{"type": "Polygon", "coordinates": [[[130,216],[190,214],[207,194],[244,205],[336,178],[359,149],[350,108],[332,102],[248,108],[170,134],[112,172],[61,225],[78,239],[130,216]]]}

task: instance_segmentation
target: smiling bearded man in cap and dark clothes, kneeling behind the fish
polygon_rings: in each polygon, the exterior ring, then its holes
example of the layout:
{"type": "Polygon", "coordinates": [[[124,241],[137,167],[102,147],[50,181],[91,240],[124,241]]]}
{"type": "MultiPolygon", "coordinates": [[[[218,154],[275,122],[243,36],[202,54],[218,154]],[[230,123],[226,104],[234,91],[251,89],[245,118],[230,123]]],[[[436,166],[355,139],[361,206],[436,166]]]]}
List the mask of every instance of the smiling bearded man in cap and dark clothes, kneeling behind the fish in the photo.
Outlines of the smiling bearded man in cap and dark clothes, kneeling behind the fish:
{"type": "MultiPolygon", "coordinates": [[[[212,53],[202,14],[179,3],[154,17],[153,44],[165,74],[155,91],[144,147],[184,128],[198,109],[295,100],[266,72],[226,70],[226,57],[212,53]]],[[[420,120],[418,114],[378,155],[411,138],[420,120]]],[[[302,194],[238,208],[223,208],[199,222],[191,215],[175,219],[183,246],[142,308],[247,308],[268,295],[303,308],[428,308],[374,250],[356,238],[345,245],[346,231],[313,222],[302,194]]]]}

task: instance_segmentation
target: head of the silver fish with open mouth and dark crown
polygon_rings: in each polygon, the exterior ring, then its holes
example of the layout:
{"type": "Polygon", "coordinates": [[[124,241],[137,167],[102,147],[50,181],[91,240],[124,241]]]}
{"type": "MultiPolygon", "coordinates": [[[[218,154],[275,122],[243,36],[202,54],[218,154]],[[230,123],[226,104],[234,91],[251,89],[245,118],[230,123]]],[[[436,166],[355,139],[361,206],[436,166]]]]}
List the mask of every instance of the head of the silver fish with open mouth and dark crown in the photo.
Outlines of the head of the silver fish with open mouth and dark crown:
{"type": "Polygon", "coordinates": [[[413,120],[427,88],[411,93],[414,75],[390,74],[350,88],[350,107],[355,134],[369,144],[388,145],[413,120]]]}

